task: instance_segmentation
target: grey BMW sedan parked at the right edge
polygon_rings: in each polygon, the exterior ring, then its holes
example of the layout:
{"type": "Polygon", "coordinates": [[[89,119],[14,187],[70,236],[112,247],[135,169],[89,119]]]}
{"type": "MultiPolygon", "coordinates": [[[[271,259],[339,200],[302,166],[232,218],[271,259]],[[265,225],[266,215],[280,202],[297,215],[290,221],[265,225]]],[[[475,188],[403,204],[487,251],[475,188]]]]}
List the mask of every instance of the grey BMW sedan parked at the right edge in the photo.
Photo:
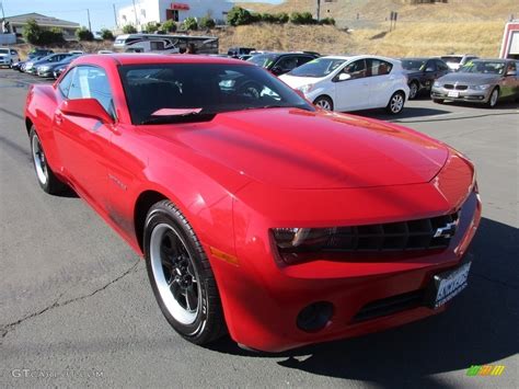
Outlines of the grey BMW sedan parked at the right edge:
{"type": "Polygon", "coordinates": [[[436,103],[462,101],[493,108],[499,100],[519,98],[518,61],[474,59],[455,73],[439,78],[432,85],[436,103]]]}

